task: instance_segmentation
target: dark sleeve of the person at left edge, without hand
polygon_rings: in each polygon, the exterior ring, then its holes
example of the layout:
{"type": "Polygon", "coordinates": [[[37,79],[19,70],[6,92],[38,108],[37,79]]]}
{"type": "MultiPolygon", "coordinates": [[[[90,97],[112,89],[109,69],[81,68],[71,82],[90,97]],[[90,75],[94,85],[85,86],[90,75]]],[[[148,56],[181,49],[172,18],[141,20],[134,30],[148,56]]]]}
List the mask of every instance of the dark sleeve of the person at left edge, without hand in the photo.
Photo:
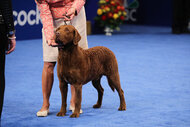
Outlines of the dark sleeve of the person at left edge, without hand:
{"type": "Polygon", "coordinates": [[[7,26],[7,32],[15,30],[11,0],[0,0],[1,13],[7,26]]]}

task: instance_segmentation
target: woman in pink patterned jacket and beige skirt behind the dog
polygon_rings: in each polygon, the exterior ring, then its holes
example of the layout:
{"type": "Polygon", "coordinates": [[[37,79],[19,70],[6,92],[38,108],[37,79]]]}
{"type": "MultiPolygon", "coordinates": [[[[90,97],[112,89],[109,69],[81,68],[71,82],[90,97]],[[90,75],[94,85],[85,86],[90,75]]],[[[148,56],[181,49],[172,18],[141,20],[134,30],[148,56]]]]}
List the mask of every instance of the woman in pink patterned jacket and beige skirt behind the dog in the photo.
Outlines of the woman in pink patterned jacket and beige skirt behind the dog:
{"type": "MultiPolygon", "coordinates": [[[[58,57],[58,49],[53,38],[54,31],[61,25],[73,25],[80,33],[82,39],[79,46],[87,49],[86,16],[84,10],[85,0],[36,0],[43,29],[43,71],[42,71],[42,93],[43,104],[37,116],[47,116],[49,113],[49,98],[54,81],[54,67],[58,57]],[[68,18],[69,17],[69,18],[68,18]]],[[[70,110],[75,108],[75,90],[71,85],[70,110]]],[[[82,110],[80,110],[82,113],[82,110]]]]}

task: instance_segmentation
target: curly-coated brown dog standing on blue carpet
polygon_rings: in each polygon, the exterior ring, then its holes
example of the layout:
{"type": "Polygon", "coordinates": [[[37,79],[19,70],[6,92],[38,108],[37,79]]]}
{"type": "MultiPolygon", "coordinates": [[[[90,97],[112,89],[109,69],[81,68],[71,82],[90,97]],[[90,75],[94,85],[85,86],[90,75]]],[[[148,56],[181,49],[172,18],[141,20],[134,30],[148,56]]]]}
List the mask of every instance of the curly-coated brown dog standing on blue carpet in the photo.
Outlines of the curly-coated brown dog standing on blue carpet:
{"type": "Polygon", "coordinates": [[[84,50],[78,46],[81,36],[71,25],[60,26],[56,30],[56,43],[59,45],[57,73],[62,95],[61,110],[57,116],[65,116],[68,83],[75,87],[75,110],[70,117],[79,117],[82,100],[82,85],[92,81],[98,91],[98,101],[93,108],[100,108],[104,89],[100,79],[105,75],[109,86],[117,90],[120,97],[118,110],[126,110],[124,92],[121,89],[118,65],[115,55],[106,47],[97,46],[84,50]]]}

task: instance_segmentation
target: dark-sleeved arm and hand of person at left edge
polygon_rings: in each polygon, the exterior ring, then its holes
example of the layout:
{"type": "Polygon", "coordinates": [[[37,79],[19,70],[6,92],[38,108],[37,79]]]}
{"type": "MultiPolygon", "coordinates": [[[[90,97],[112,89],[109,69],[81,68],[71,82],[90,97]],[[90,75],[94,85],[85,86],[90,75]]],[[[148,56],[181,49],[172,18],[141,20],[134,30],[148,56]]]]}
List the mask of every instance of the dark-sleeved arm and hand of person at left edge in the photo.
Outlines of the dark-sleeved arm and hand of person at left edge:
{"type": "Polygon", "coordinates": [[[14,51],[15,46],[16,46],[12,2],[11,0],[1,0],[0,6],[1,6],[1,12],[3,15],[5,25],[7,27],[8,48],[7,48],[6,54],[9,54],[12,51],[14,51]]]}

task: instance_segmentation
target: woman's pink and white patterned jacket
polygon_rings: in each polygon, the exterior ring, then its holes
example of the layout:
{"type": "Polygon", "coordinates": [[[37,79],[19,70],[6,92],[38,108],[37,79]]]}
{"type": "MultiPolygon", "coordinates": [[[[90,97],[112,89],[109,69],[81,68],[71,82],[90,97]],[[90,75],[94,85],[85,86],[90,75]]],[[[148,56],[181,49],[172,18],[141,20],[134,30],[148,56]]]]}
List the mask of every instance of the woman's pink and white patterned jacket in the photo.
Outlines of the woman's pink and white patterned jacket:
{"type": "Polygon", "coordinates": [[[46,40],[49,40],[54,34],[53,19],[63,18],[63,14],[72,7],[79,13],[85,0],[42,0],[41,3],[36,2],[36,4],[40,10],[46,40]]]}

